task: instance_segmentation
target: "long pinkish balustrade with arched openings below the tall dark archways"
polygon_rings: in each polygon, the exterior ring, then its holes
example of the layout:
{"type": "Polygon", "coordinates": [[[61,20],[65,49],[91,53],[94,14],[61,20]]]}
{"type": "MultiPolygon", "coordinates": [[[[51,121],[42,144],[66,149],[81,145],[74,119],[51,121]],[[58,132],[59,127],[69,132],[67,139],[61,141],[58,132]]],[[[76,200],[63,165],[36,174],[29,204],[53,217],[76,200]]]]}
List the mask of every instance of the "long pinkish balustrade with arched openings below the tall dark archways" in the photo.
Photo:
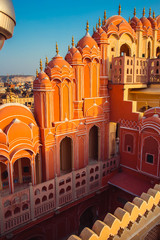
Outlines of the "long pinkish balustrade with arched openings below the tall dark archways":
{"type": "Polygon", "coordinates": [[[103,187],[103,178],[118,167],[118,157],[96,162],[23,191],[0,197],[0,234],[80,199],[103,187]]]}

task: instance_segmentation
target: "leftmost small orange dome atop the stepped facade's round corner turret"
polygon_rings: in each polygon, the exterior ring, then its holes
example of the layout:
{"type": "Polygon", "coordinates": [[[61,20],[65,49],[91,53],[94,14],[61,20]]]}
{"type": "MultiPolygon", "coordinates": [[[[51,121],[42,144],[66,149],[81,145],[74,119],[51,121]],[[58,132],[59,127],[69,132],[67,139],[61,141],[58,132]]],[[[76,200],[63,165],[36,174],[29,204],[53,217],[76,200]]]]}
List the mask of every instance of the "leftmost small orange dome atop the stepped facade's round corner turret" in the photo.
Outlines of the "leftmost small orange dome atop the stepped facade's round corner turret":
{"type": "Polygon", "coordinates": [[[52,84],[47,74],[41,71],[33,82],[33,89],[52,89],[52,84]]]}

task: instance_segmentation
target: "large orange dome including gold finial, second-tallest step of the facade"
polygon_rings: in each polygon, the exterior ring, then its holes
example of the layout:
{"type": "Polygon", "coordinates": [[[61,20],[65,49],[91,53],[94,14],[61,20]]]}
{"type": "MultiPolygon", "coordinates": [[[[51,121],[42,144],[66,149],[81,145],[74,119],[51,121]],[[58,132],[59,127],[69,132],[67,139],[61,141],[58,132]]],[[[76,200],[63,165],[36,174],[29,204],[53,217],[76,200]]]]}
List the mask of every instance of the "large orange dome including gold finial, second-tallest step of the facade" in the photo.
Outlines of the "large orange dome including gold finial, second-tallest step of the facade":
{"type": "Polygon", "coordinates": [[[96,41],[89,34],[89,24],[87,21],[86,35],[79,40],[77,43],[77,49],[80,51],[83,57],[93,57],[96,56],[99,58],[100,51],[96,41]]]}

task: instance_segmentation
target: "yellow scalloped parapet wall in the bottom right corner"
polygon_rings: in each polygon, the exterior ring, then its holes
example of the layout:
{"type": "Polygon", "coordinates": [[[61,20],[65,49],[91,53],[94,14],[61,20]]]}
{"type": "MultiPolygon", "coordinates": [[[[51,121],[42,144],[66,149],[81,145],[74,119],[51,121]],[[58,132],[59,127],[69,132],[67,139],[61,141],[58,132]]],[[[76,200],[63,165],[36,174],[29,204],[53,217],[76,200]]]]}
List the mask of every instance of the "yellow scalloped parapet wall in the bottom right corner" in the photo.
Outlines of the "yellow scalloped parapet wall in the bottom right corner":
{"type": "Polygon", "coordinates": [[[123,209],[117,208],[114,215],[108,213],[103,222],[97,220],[92,229],[86,227],[79,237],[72,235],[68,240],[147,240],[148,232],[159,223],[160,184],[156,184],[140,198],[127,202],[123,209]]]}

